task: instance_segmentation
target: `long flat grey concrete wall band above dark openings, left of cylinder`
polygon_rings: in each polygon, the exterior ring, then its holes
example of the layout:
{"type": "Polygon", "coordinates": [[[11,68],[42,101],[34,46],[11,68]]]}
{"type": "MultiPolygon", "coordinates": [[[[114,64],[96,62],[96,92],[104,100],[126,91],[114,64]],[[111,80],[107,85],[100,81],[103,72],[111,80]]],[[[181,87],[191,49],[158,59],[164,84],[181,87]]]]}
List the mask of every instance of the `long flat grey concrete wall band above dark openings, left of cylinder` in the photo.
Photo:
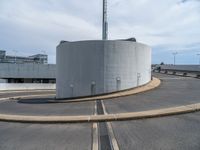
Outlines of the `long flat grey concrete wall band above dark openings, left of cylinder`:
{"type": "Polygon", "coordinates": [[[56,65],[0,63],[0,78],[56,78],[56,65]]]}

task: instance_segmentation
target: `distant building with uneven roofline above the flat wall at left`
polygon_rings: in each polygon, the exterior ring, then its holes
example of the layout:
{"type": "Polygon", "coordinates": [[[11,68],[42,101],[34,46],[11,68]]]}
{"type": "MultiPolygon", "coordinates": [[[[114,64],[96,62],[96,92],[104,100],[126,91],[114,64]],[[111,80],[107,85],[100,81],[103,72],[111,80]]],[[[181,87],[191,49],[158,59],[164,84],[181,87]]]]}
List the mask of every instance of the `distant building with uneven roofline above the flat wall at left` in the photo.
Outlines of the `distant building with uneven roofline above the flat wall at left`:
{"type": "Polygon", "coordinates": [[[37,55],[28,56],[28,57],[24,57],[24,56],[9,56],[9,55],[6,55],[6,51],[0,50],[0,63],[47,64],[47,62],[48,62],[48,55],[45,55],[45,54],[37,54],[37,55]]]}

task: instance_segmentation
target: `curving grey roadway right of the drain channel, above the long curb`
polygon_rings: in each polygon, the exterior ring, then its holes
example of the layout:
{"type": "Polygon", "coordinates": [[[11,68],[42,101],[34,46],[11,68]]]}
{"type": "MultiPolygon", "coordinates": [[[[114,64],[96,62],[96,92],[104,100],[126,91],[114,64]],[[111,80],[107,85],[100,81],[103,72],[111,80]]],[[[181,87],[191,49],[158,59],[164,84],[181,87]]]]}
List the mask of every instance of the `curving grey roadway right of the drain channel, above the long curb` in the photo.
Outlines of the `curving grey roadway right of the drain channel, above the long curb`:
{"type": "Polygon", "coordinates": [[[158,73],[154,76],[162,82],[153,91],[105,100],[108,113],[160,109],[200,102],[199,79],[158,73]]]}

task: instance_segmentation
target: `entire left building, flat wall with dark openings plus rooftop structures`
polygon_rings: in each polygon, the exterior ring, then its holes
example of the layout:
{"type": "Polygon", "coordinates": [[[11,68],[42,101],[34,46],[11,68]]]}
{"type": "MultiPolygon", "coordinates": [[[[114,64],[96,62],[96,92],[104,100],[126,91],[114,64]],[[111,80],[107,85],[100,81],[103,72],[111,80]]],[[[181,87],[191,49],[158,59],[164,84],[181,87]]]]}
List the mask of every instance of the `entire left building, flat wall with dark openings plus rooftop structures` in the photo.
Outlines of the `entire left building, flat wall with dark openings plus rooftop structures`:
{"type": "Polygon", "coordinates": [[[0,50],[0,83],[55,83],[56,65],[48,65],[48,56],[9,56],[0,50]]]}

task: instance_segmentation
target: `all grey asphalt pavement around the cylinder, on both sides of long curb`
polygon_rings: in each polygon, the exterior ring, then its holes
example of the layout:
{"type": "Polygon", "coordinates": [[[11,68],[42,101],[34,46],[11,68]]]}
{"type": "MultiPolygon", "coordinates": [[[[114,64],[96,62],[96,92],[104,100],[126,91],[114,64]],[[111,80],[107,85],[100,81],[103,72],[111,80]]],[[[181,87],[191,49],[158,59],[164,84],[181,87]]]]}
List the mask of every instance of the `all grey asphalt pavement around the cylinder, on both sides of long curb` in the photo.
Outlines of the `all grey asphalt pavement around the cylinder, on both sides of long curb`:
{"type": "MultiPolygon", "coordinates": [[[[108,113],[143,111],[200,102],[200,79],[154,74],[160,87],[137,95],[104,100],[108,113]]],[[[53,92],[47,92],[47,94],[53,92]]],[[[25,93],[9,93],[6,96],[25,93]]],[[[30,93],[26,93],[30,94],[30,93]]],[[[31,93],[31,94],[43,94],[31,93]]],[[[46,94],[46,93],[45,93],[46,94]]],[[[2,93],[0,93],[2,97],[2,93]]],[[[46,103],[46,98],[0,101],[0,113],[25,115],[92,115],[95,102],[46,103]]],[[[98,114],[102,114],[102,109],[98,114]]],[[[199,150],[200,112],[169,117],[112,122],[122,150],[199,150]]],[[[108,143],[108,128],[98,129],[100,144],[108,143]]],[[[31,124],[0,122],[0,150],[91,150],[92,123],[31,124]]],[[[99,146],[101,149],[106,146],[99,146]]]]}

